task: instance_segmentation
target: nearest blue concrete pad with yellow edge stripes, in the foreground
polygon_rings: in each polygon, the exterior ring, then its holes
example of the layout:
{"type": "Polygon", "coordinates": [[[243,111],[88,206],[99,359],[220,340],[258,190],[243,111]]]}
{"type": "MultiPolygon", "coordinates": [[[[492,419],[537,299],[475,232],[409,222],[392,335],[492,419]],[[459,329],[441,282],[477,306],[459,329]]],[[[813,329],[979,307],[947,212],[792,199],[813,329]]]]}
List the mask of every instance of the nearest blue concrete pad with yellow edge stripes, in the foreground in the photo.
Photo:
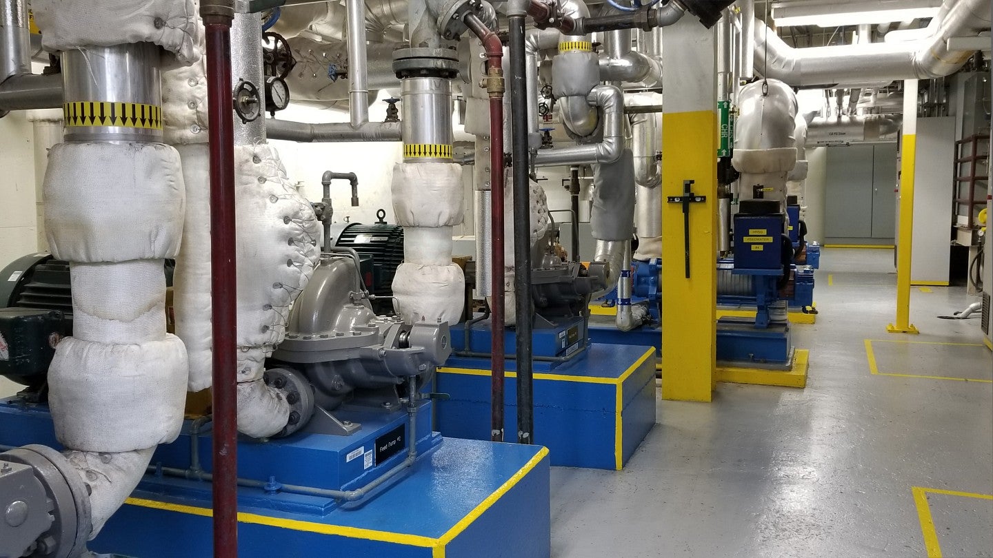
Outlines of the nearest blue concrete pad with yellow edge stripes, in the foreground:
{"type": "MultiPolygon", "coordinates": [[[[425,420],[430,409],[422,409],[425,420]]],[[[370,427],[372,420],[366,423],[370,427]]],[[[383,425],[389,426],[389,425],[383,425]]],[[[180,440],[162,446],[153,467],[190,447],[180,440]]],[[[420,428],[418,428],[420,431],[420,428]]],[[[430,431],[429,431],[430,432],[430,431]]],[[[239,474],[255,467],[292,466],[300,475],[327,476],[331,484],[348,468],[337,452],[321,459],[320,446],[350,444],[352,437],[305,435],[268,444],[238,445],[239,474]],[[314,440],[314,436],[338,440],[314,440]],[[269,446],[267,453],[258,447],[269,446]],[[299,446],[293,448],[293,446],[299,446]],[[287,463],[293,462],[293,463],[287,463]]],[[[201,435],[210,448],[210,437],[201,435]]],[[[0,402],[0,445],[41,443],[56,448],[44,407],[0,402]]],[[[327,496],[290,493],[278,484],[239,488],[239,552],[244,558],[279,556],[389,556],[395,558],[544,558],[550,553],[549,459],[539,446],[418,437],[427,447],[414,465],[372,495],[341,504],[327,496]]],[[[203,455],[205,462],[210,456],[203,455]]],[[[392,467],[398,455],[384,460],[392,467]]],[[[359,463],[363,459],[357,459],[359,463]]],[[[208,462],[209,463],[209,462],[208,462]]],[[[351,462],[349,463],[351,466],[351,462]]],[[[375,464],[374,469],[379,465],[375,464]]],[[[290,475],[289,473],[287,475],[290,475]]],[[[292,476],[292,475],[290,475],[292,476]]],[[[262,479],[264,480],[264,479],[262,479]]],[[[357,481],[357,480],[356,480],[357,481]]],[[[285,481],[284,481],[285,482],[285,481]]],[[[365,480],[357,481],[361,485],[365,480]]],[[[353,488],[347,483],[346,488],[353,488]]],[[[141,558],[211,556],[211,485],[147,475],[89,544],[97,553],[141,558]]]]}

